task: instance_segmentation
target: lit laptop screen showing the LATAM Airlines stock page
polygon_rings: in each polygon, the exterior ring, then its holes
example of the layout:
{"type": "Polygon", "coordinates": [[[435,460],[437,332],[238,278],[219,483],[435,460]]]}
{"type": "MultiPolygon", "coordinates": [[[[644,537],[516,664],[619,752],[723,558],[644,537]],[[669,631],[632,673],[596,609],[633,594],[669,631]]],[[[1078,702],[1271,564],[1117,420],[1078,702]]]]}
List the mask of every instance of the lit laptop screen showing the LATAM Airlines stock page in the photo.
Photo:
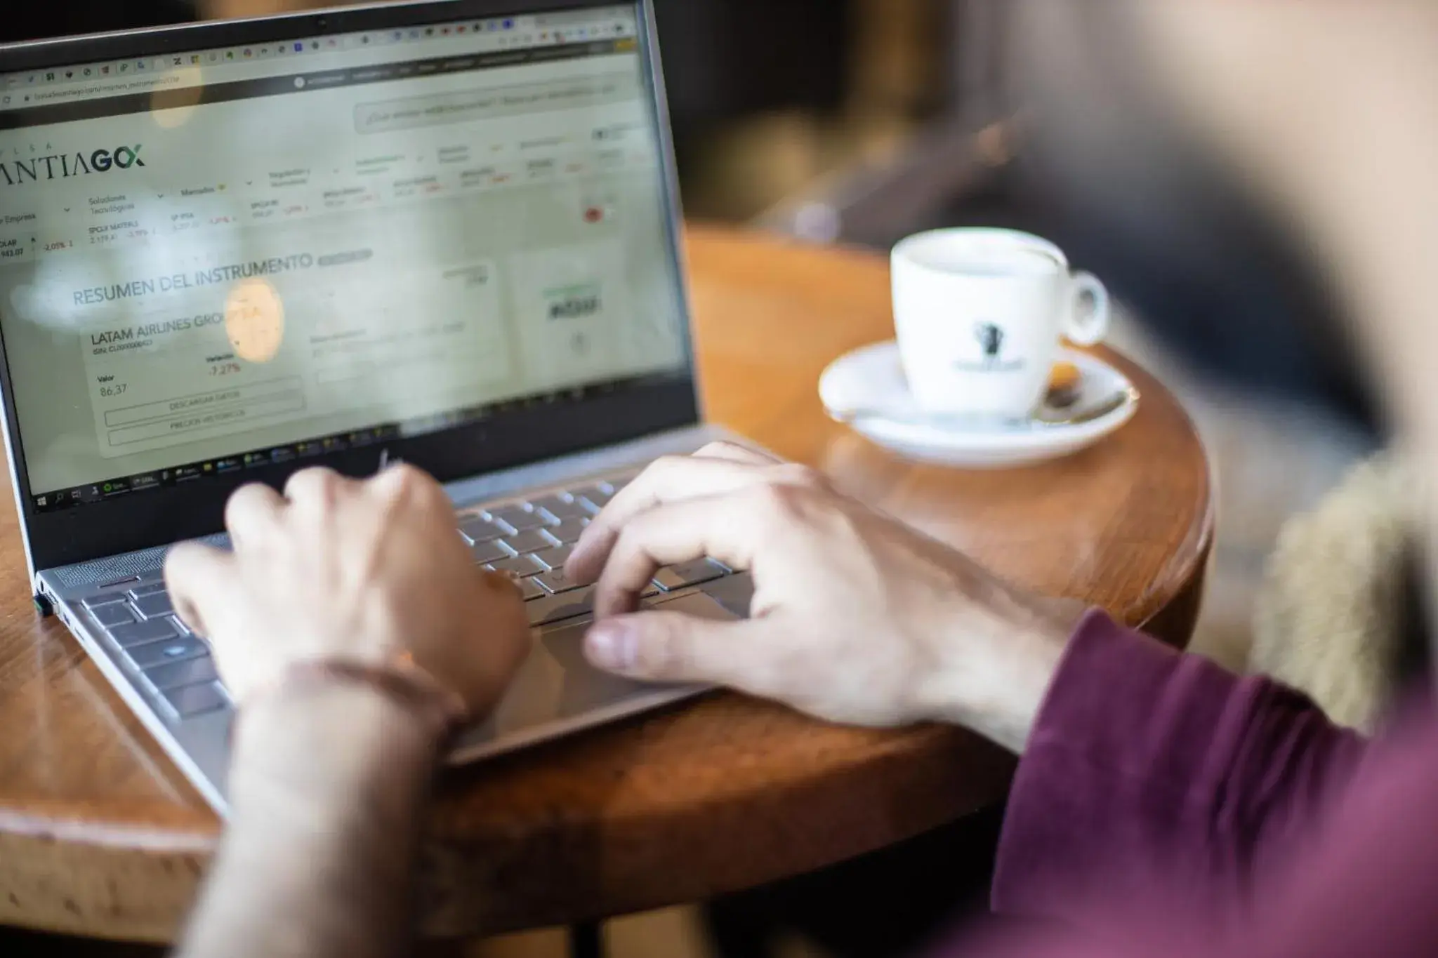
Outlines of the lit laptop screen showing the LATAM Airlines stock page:
{"type": "Polygon", "coordinates": [[[626,4],[0,76],[33,511],[687,379],[641,37],[626,4]]]}

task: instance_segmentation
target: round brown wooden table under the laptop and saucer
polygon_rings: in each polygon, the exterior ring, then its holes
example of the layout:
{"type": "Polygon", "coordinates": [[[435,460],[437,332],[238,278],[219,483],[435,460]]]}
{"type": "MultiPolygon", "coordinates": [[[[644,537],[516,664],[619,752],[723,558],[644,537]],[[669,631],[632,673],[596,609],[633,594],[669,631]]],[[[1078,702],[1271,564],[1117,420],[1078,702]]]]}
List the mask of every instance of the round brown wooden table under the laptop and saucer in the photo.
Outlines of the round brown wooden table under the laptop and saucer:
{"type": "MultiPolygon", "coordinates": [[[[815,395],[828,362],[892,333],[884,257],[715,228],[695,228],[689,253],[712,419],[1017,582],[1186,643],[1212,485],[1162,385],[1113,356],[1142,411],[1099,447],[1012,473],[915,467],[815,395]]],[[[7,490],[0,582],[0,924],[168,941],[219,822],[78,643],[36,618],[7,490]]],[[[953,728],[833,728],[716,694],[450,776],[426,925],[489,934],[751,888],[991,804],[1012,766],[953,728]]]]}

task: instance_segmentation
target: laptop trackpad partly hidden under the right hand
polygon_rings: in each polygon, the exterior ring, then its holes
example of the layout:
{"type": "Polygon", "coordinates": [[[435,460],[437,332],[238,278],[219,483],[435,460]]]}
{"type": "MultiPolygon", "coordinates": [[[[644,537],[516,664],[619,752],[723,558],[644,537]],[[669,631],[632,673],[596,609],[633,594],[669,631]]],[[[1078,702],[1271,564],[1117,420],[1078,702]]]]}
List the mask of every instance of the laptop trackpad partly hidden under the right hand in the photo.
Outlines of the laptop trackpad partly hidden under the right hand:
{"type": "MultiPolygon", "coordinates": [[[[731,620],[731,612],[703,593],[692,593],[646,608],[682,612],[703,619],[731,620]]],[[[608,712],[628,699],[653,698],[656,687],[601,672],[584,658],[584,635],[591,620],[561,623],[539,631],[533,651],[519,669],[492,724],[495,738],[533,730],[551,722],[572,722],[591,712],[608,712]]],[[[597,715],[600,721],[603,717],[597,715]]]]}

